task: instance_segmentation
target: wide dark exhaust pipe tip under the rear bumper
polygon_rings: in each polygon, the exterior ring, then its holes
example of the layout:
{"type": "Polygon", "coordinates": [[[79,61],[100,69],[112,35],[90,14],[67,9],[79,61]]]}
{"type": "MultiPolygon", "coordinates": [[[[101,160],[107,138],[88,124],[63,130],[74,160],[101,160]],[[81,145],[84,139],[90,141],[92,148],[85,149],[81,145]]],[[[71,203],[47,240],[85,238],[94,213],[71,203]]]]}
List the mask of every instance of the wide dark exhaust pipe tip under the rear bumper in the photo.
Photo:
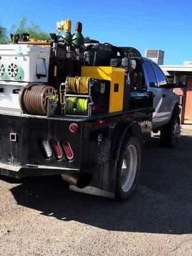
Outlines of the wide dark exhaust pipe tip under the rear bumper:
{"type": "Polygon", "coordinates": [[[77,188],[85,188],[92,181],[92,174],[88,172],[75,173],[75,174],[61,174],[63,180],[75,185],[77,188]]]}

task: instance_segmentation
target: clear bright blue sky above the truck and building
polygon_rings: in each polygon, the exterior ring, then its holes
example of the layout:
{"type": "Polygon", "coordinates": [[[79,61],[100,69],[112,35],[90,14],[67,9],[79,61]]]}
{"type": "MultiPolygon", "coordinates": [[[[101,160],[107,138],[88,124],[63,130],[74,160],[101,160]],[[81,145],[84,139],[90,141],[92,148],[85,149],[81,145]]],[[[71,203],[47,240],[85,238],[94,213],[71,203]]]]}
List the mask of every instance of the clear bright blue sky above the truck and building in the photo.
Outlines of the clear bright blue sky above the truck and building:
{"type": "Polygon", "coordinates": [[[164,64],[180,65],[192,60],[191,10],[189,0],[2,1],[0,24],[10,29],[25,16],[52,32],[58,20],[71,19],[72,31],[81,21],[84,36],[136,47],[142,55],[145,49],[161,49],[165,51],[164,64]]]}

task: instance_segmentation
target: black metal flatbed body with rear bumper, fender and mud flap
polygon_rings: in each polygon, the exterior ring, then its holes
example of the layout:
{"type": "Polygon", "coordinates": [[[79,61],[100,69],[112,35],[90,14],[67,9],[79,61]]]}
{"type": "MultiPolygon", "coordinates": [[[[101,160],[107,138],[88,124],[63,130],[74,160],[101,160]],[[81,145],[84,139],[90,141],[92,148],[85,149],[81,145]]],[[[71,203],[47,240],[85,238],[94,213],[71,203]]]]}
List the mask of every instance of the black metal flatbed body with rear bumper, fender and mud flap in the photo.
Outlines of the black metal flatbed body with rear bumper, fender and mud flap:
{"type": "Polygon", "coordinates": [[[0,174],[21,179],[87,172],[93,177],[92,189],[113,197],[116,163],[125,134],[129,132],[141,142],[148,140],[153,111],[153,108],[138,108],[90,117],[47,117],[0,111],[0,174]],[[78,125],[76,133],[69,131],[70,124],[74,123],[78,125]],[[16,141],[11,140],[10,134],[15,134],[16,141]],[[40,143],[43,139],[67,141],[74,153],[73,159],[67,159],[65,154],[61,159],[54,154],[47,159],[40,143]]]}

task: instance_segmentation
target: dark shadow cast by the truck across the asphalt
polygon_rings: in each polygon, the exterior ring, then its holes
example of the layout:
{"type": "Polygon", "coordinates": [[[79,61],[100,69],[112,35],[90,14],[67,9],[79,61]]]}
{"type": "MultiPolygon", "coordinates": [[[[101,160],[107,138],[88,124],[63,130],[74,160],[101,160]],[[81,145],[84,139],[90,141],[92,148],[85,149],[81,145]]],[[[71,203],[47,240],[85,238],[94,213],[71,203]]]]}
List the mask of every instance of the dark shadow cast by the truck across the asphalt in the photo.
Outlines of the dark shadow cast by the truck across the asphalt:
{"type": "Polygon", "coordinates": [[[17,204],[50,218],[106,230],[191,234],[191,154],[192,136],[182,136],[172,149],[161,147],[155,137],[146,143],[140,186],[128,202],[68,191],[59,176],[25,179],[11,191],[17,204]]]}

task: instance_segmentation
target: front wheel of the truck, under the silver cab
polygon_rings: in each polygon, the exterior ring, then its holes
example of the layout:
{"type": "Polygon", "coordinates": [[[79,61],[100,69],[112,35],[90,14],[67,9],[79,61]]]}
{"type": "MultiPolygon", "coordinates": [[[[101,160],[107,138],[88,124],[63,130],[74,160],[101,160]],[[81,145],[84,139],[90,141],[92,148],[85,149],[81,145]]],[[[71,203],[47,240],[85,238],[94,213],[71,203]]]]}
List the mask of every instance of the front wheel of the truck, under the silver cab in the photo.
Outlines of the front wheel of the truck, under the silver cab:
{"type": "Polygon", "coordinates": [[[163,127],[160,134],[161,143],[164,147],[173,148],[177,144],[180,134],[179,113],[172,116],[170,122],[163,127]]]}

